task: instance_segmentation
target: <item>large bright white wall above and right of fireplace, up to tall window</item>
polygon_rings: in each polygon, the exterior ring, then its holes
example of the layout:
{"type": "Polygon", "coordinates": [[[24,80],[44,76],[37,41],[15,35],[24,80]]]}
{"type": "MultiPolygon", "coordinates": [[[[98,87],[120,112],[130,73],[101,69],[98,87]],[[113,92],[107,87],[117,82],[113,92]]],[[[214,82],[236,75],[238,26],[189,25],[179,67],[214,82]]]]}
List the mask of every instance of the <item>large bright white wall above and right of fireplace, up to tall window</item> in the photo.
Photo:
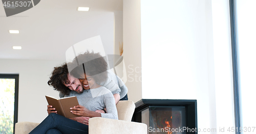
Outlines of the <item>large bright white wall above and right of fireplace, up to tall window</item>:
{"type": "Polygon", "coordinates": [[[198,128],[234,126],[228,14],[228,1],[141,0],[142,98],[197,99],[198,128]]]}

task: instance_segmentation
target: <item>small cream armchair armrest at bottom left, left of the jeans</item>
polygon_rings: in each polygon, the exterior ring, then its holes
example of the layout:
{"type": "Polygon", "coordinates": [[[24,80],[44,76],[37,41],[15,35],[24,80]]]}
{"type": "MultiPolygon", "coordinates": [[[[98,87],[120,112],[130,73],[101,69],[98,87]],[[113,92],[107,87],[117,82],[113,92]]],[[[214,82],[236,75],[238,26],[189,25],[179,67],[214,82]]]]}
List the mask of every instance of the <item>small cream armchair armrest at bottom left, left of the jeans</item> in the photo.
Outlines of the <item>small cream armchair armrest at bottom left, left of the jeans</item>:
{"type": "Polygon", "coordinates": [[[17,122],[15,124],[15,134],[28,134],[37,125],[39,125],[39,123],[34,123],[34,122],[17,122]]]}

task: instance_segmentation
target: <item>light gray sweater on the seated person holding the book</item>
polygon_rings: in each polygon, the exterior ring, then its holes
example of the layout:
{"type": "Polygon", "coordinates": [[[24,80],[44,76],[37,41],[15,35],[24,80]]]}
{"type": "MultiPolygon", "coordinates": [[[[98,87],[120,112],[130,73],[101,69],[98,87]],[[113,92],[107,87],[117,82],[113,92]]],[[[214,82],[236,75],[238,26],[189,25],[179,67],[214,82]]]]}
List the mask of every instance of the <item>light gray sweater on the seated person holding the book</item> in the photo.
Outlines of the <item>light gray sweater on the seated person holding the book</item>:
{"type": "Polygon", "coordinates": [[[83,105],[90,111],[106,108],[108,113],[101,113],[101,117],[103,118],[118,119],[114,96],[110,90],[105,87],[83,90],[83,93],[81,94],[71,91],[70,95],[65,95],[65,97],[70,96],[76,96],[79,104],[83,105]]]}

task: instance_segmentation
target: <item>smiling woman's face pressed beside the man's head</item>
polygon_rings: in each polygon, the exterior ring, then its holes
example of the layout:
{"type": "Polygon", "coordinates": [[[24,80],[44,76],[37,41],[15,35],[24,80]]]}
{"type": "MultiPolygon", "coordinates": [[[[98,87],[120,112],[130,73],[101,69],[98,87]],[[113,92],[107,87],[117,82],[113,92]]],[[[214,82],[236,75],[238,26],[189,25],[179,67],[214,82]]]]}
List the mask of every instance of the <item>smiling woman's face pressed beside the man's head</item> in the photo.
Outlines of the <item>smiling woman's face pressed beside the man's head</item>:
{"type": "MultiPolygon", "coordinates": [[[[79,78],[80,83],[82,84],[83,89],[94,89],[97,88],[96,82],[93,77],[84,74],[85,78],[79,78]]],[[[83,77],[84,77],[83,76],[83,77]]]]}

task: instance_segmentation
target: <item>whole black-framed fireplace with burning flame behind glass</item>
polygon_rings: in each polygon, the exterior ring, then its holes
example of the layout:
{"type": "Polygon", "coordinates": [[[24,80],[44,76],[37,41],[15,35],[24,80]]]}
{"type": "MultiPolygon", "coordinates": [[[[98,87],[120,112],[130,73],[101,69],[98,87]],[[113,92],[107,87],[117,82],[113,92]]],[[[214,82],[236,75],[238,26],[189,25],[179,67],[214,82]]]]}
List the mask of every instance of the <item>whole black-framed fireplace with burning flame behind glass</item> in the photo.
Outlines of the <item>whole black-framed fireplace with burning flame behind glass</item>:
{"type": "Polygon", "coordinates": [[[147,125],[148,134],[197,133],[197,100],[141,99],[133,121],[147,125]]]}

